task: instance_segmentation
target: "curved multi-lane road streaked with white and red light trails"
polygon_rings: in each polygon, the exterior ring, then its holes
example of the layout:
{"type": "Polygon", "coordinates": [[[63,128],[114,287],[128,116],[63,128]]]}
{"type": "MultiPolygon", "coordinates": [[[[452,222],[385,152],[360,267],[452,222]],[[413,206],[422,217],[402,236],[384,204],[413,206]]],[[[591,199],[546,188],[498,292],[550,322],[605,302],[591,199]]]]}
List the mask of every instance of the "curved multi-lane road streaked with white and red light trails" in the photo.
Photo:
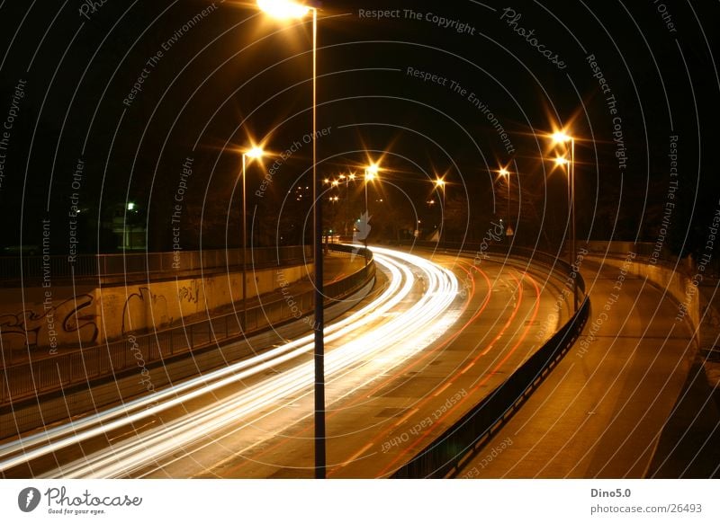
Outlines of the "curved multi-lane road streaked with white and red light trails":
{"type": "MultiPolygon", "coordinates": [[[[374,248],[383,289],[326,327],[330,477],[392,474],[567,315],[522,263],[374,248]],[[428,254],[429,255],[429,254],[428,254]],[[559,314],[558,314],[559,313],[559,314]]],[[[311,477],[311,335],[0,447],[5,477],[311,477]]]]}

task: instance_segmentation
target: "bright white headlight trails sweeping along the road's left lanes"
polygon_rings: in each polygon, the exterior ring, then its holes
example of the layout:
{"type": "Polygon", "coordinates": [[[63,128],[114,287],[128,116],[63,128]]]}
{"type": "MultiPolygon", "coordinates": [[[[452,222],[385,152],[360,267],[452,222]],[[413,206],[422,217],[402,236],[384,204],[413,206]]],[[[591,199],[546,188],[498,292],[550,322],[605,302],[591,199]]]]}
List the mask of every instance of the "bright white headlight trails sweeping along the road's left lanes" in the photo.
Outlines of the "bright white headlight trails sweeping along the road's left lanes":
{"type": "MultiPolygon", "coordinates": [[[[326,342],[342,343],[353,331],[378,323],[352,341],[330,350],[326,356],[326,377],[337,376],[344,369],[362,360],[383,358],[406,359],[411,353],[428,346],[439,331],[450,322],[437,323],[446,312],[458,291],[455,275],[418,256],[387,249],[374,249],[374,259],[389,272],[389,285],[373,303],[355,314],[326,327],[326,342]],[[419,270],[426,279],[424,294],[417,303],[388,320],[389,313],[408,297],[417,282],[410,267],[419,270]]],[[[84,420],[69,422],[0,447],[0,470],[6,470],[62,448],[101,436],[130,425],[143,418],[166,411],[193,398],[208,394],[248,377],[256,376],[302,355],[311,354],[313,336],[304,336],[281,347],[244,359],[202,377],[170,386],[84,420]]],[[[272,406],[290,394],[299,394],[313,383],[312,363],[302,362],[277,376],[268,377],[256,385],[247,386],[221,402],[198,409],[181,418],[166,422],[162,427],[125,439],[93,456],[77,460],[46,474],[47,477],[114,477],[128,474],[142,466],[206,438],[209,434],[237,425],[251,414],[272,406]]]]}

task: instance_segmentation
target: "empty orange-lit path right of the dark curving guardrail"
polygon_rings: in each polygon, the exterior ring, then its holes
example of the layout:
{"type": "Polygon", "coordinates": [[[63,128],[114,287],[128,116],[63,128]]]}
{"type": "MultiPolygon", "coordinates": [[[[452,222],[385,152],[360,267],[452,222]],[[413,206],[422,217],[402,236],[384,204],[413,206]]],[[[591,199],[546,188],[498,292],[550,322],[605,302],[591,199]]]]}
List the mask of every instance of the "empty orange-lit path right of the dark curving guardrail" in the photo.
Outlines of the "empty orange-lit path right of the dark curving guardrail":
{"type": "Polygon", "coordinates": [[[685,422],[671,412],[689,376],[689,324],[644,279],[590,261],[582,272],[591,310],[576,348],[457,477],[640,478],[659,442],[672,446],[662,431],[669,418],[668,433],[685,422]]]}

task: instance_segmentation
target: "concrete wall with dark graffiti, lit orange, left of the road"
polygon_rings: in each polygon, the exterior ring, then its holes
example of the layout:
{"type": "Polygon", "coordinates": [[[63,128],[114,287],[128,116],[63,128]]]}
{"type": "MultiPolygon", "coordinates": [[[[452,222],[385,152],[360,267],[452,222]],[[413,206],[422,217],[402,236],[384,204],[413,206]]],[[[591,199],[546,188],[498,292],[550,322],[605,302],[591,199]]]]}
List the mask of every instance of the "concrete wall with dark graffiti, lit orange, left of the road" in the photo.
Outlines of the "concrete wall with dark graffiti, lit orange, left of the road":
{"type": "MultiPolygon", "coordinates": [[[[312,265],[247,270],[247,298],[273,292],[280,281],[311,274],[312,265]],[[284,280],[278,277],[278,270],[284,280]]],[[[242,272],[142,284],[0,289],[0,336],[9,351],[94,345],[128,332],[162,329],[188,316],[242,299],[242,272]]]]}

